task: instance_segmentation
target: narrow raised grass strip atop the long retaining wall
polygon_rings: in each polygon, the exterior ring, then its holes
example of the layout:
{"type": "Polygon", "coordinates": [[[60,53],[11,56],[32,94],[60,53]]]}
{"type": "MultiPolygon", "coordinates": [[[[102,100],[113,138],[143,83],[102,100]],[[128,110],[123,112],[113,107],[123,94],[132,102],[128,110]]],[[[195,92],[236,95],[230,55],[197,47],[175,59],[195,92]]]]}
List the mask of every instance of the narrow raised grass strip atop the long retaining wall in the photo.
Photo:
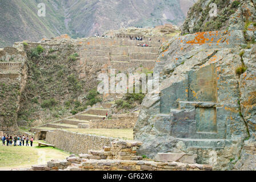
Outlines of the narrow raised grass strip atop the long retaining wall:
{"type": "Polygon", "coordinates": [[[83,134],[133,140],[133,129],[64,129],[83,134]]]}

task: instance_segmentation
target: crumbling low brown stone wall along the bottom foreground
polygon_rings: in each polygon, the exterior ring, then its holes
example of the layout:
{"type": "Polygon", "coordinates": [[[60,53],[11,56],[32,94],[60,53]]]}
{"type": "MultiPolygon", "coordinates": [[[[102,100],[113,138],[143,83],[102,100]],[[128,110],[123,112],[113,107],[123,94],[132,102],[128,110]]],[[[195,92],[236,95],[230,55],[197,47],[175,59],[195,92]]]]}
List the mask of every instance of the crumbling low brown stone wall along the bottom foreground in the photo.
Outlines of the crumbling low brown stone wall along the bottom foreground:
{"type": "Polygon", "coordinates": [[[32,166],[33,171],[200,171],[212,170],[212,166],[178,162],[154,162],[142,160],[136,156],[141,142],[134,140],[115,140],[111,147],[79,154],[79,158],[70,155],[65,160],[51,160],[47,165],[32,166]]]}

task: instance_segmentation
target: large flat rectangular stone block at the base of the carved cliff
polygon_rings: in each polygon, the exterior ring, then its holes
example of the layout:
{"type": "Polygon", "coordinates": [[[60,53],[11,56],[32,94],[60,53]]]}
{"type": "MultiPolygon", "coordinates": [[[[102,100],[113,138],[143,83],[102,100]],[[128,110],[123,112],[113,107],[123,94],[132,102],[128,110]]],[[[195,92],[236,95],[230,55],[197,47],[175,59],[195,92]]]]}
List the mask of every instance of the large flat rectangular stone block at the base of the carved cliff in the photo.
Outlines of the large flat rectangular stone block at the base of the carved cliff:
{"type": "Polygon", "coordinates": [[[155,156],[155,161],[165,162],[165,163],[180,162],[180,163],[195,164],[196,158],[197,158],[197,154],[158,153],[155,156]]]}

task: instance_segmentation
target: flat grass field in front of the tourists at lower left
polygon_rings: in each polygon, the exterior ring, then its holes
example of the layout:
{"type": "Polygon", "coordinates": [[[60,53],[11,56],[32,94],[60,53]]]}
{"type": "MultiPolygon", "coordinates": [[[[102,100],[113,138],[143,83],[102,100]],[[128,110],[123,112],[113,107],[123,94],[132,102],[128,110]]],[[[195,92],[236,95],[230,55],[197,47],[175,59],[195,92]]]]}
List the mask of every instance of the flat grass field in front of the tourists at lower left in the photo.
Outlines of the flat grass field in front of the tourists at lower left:
{"type": "Polygon", "coordinates": [[[0,170],[46,164],[51,159],[66,159],[69,155],[69,152],[57,148],[38,147],[38,141],[33,142],[33,147],[0,146],[0,170]]]}

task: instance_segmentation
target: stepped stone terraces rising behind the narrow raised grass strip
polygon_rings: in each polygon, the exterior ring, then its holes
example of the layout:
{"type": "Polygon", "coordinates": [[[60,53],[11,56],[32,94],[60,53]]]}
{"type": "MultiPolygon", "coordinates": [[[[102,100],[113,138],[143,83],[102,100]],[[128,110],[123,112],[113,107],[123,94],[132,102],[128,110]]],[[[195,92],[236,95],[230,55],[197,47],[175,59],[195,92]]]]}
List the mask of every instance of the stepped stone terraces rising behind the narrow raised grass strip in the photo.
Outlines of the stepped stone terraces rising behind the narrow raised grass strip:
{"type": "Polygon", "coordinates": [[[103,102],[101,107],[91,108],[71,117],[61,119],[57,122],[47,123],[42,126],[34,127],[32,132],[55,129],[128,129],[133,128],[138,119],[138,113],[111,115],[107,119],[110,107],[113,102],[103,102]]]}

